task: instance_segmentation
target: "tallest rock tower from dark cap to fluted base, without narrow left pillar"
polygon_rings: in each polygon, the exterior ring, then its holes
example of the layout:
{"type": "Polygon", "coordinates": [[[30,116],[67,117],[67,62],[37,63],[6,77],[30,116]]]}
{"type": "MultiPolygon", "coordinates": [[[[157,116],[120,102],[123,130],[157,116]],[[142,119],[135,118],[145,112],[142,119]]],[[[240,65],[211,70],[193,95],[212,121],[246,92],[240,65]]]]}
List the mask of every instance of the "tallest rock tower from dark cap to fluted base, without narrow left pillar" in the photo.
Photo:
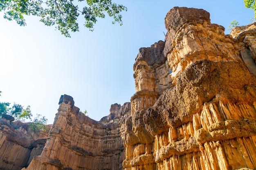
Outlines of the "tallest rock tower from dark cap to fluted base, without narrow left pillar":
{"type": "Polygon", "coordinates": [[[256,78],[241,52],[254,55],[254,31],[233,39],[206,11],[178,7],[166,28],[175,86],[144,114],[157,169],[255,169],[256,78]]]}

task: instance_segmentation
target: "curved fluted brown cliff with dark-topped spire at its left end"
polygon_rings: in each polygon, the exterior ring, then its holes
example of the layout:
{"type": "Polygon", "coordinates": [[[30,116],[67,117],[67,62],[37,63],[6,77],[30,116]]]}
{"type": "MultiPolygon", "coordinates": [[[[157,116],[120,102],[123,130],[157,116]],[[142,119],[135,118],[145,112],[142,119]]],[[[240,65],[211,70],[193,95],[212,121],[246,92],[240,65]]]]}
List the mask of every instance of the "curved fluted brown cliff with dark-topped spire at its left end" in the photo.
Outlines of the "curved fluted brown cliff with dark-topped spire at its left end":
{"type": "Polygon", "coordinates": [[[130,103],[112,105],[100,122],[79,112],[71,96],[61,96],[59,105],[45,148],[27,170],[122,170],[120,122],[130,115],[130,103]]]}

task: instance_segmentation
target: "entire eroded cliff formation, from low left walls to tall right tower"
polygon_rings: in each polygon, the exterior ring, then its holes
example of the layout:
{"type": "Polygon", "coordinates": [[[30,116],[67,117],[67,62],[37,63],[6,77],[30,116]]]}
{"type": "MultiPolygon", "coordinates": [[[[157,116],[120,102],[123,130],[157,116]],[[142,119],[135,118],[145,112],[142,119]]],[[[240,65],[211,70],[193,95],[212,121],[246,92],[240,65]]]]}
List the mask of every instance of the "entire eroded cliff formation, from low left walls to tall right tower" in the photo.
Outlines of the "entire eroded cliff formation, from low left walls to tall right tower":
{"type": "Polygon", "coordinates": [[[209,17],[171,9],[165,41],[139,49],[131,101],[100,121],[67,95],[40,137],[2,118],[0,169],[256,169],[256,23],[225,35],[209,17]]]}

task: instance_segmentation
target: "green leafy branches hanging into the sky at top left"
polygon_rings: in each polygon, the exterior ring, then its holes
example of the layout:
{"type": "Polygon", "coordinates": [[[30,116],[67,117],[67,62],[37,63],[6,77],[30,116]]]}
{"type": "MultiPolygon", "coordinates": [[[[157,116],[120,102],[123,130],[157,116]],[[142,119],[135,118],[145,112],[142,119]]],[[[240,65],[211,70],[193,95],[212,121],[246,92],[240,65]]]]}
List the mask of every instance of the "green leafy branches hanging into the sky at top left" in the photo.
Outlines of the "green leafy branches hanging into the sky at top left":
{"type": "Polygon", "coordinates": [[[46,26],[56,26],[61,34],[70,37],[69,31],[79,31],[77,18],[84,16],[84,26],[93,31],[97,18],[105,18],[107,13],[114,21],[122,25],[121,11],[126,7],[116,4],[111,0],[0,0],[0,11],[4,11],[4,18],[15,20],[20,26],[25,26],[23,15],[35,15],[46,26]],[[82,9],[79,3],[87,4],[82,9]]]}

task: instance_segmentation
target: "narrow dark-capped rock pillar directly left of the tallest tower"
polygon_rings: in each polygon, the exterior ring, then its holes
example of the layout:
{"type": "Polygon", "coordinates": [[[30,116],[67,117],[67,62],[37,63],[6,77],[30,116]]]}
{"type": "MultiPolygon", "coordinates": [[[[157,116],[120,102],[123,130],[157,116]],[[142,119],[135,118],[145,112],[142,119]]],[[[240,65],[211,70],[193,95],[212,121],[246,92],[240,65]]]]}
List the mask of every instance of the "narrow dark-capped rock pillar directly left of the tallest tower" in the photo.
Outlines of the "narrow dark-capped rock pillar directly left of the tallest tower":
{"type": "Polygon", "coordinates": [[[143,115],[172,86],[164,41],[140,48],[133,67],[136,93],[131,98],[132,116],[126,121],[124,146],[126,170],[156,169],[154,137],[145,129],[143,115]]]}

